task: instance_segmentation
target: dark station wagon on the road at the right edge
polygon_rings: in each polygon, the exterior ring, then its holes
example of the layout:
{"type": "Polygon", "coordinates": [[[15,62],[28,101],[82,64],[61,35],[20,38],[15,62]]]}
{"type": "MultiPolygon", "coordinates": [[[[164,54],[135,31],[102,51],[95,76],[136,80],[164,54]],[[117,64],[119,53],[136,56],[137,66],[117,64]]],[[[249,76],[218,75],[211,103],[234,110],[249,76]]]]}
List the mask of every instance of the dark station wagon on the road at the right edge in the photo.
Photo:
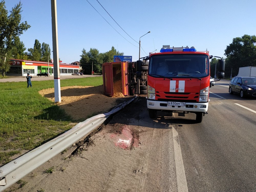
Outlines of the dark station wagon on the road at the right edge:
{"type": "Polygon", "coordinates": [[[238,93],[241,98],[245,96],[256,98],[256,77],[234,77],[229,83],[229,93],[238,93]]]}

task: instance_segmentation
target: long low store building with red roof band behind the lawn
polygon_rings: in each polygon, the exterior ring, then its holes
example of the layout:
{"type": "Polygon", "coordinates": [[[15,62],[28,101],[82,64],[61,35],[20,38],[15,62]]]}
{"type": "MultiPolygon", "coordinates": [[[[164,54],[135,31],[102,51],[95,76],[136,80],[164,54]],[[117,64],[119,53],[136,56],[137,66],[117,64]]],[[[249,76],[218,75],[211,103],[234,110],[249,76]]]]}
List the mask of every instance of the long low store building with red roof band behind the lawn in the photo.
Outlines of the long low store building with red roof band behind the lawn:
{"type": "MultiPolygon", "coordinates": [[[[10,70],[7,72],[7,76],[27,76],[30,73],[32,76],[38,73],[48,72],[48,62],[42,61],[27,61],[19,59],[10,59],[10,70]]],[[[60,74],[71,75],[80,71],[79,65],[71,65],[66,63],[60,63],[60,74]]],[[[53,63],[49,63],[49,74],[54,74],[53,63]]]]}

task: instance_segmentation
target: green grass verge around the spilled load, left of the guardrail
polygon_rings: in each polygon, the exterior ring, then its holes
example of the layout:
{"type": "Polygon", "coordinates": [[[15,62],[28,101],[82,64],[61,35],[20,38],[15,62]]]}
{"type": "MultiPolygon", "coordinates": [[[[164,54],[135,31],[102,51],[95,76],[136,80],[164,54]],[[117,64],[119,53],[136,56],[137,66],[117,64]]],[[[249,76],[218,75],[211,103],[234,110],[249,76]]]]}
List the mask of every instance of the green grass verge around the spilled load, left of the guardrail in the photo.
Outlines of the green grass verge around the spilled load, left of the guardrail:
{"type": "MultiPolygon", "coordinates": [[[[60,86],[99,86],[102,77],[60,80],[60,86]]],[[[22,150],[31,150],[72,126],[74,121],[64,110],[38,91],[54,87],[54,81],[0,83],[0,164],[22,150]]],[[[83,120],[83,119],[81,119],[83,120]]]]}

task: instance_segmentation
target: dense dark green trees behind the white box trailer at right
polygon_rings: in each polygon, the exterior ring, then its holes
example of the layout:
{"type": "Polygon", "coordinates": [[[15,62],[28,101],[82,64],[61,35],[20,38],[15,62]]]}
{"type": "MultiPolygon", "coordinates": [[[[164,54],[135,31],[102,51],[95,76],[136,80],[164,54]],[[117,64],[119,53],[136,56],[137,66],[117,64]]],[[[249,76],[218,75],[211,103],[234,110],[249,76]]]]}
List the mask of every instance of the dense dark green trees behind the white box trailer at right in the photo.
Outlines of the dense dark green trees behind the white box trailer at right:
{"type": "Polygon", "coordinates": [[[225,49],[226,67],[225,74],[238,74],[239,67],[256,66],[256,36],[244,35],[233,38],[225,49]]]}

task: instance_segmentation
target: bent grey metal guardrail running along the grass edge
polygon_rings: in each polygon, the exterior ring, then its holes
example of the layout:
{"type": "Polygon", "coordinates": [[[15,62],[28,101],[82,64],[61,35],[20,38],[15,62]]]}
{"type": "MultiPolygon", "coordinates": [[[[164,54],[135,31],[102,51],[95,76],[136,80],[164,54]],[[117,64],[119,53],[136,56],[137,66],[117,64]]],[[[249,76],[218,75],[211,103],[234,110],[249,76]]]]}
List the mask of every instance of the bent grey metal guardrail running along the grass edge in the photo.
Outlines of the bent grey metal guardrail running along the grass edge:
{"type": "Polygon", "coordinates": [[[60,136],[0,167],[0,191],[4,191],[34,169],[88,135],[91,131],[100,126],[110,115],[124,108],[124,106],[132,102],[135,98],[137,98],[137,95],[131,100],[117,105],[108,113],[95,115],[78,123],[60,136]]]}

